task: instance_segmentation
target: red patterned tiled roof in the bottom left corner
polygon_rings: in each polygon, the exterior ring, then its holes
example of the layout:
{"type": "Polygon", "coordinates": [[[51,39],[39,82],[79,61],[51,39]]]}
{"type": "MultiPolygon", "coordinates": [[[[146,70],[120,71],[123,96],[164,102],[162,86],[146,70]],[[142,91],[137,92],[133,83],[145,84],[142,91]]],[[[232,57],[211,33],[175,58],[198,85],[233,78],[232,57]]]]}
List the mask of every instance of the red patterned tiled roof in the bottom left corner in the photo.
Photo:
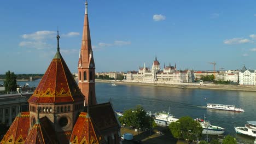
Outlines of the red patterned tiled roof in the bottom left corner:
{"type": "Polygon", "coordinates": [[[21,112],[14,119],[9,130],[4,135],[2,143],[24,143],[30,129],[30,112],[21,112]]]}

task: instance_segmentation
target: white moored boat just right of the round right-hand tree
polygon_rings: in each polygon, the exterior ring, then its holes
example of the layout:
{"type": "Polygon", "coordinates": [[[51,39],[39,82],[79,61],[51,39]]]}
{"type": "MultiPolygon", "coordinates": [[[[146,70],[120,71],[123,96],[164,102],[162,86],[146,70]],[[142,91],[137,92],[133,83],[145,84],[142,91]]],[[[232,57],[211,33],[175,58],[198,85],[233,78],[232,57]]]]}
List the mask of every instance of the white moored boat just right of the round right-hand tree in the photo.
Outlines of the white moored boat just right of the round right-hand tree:
{"type": "Polygon", "coordinates": [[[196,118],[196,121],[199,122],[201,127],[203,128],[202,134],[222,135],[225,132],[224,128],[211,125],[210,122],[206,122],[201,118],[196,118]]]}

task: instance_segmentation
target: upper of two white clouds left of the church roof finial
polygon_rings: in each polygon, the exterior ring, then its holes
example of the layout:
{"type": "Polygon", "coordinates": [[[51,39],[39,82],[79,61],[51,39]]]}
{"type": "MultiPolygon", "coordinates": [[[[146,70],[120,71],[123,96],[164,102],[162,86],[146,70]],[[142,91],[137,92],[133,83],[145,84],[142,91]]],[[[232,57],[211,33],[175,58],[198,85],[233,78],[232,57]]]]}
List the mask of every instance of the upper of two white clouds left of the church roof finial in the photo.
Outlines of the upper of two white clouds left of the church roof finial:
{"type": "Polygon", "coordinates": [[[54,31],[37,31],[31,34],[23,34],[21,37],[24,39],[43,40],[54,38],[54,34],[56,34],[54,31]]]}

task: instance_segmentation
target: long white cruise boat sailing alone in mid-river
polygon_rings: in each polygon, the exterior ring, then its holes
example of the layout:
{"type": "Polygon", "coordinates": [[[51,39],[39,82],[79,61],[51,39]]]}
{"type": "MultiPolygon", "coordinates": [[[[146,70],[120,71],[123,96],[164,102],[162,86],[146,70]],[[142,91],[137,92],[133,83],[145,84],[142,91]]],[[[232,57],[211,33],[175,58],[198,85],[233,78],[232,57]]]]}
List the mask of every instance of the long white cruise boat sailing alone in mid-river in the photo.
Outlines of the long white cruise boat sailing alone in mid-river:
{"type": "Polygon", "coordinates": [[[235,105],[222,105],[222,104],[207,104],[207,109],[227,110],[235,112],[243,112],[245,110],[236,107],[235,105]]]}

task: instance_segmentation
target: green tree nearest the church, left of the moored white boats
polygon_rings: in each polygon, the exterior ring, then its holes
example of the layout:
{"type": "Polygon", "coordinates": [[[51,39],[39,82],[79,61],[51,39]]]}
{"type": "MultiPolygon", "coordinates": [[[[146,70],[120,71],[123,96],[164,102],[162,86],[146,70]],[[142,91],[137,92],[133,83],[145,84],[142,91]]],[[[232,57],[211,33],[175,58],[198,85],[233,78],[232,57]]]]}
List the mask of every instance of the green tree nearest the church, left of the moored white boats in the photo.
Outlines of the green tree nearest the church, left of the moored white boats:
{"type": "Polygon", "coordinates": [[[154,119],[147,115],[146,110],[141,105],[135,109],[129,109],[124,112],[124,116],[119,118],[121,124],[126,124],[134,128],[153,128],[156,126],[154,119]]]}

